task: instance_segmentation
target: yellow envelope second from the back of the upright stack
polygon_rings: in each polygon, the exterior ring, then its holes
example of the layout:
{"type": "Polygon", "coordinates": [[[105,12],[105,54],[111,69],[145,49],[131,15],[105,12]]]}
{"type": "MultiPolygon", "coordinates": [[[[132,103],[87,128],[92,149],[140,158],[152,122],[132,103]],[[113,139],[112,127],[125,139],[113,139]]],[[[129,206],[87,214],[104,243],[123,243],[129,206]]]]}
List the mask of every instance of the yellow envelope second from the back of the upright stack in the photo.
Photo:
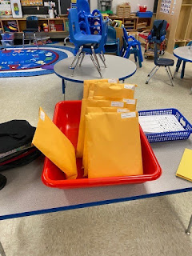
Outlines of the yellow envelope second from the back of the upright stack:
{"type": "Polygon", "coordinates": [[[106,98],[134,98],[134,90],[137,85],[97,82],[94,86],[94,97],[105,96],[106,98]]]}

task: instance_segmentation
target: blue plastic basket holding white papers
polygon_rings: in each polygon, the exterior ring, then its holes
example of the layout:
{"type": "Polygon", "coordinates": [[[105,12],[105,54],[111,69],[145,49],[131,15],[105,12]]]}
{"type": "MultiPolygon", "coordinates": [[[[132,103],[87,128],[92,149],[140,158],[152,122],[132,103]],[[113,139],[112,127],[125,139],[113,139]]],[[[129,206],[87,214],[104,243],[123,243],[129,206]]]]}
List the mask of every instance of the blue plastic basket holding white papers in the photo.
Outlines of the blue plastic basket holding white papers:
{"type": "Polygon", "coordinates": [[[139,116],[159,115],[159,114],[174,114],[178,122],[183,126],[185,130],[172,131],[158,134],[147,134],[146,138],[149,142],[166,142],[187,139],[190,137],[192,132],[192,126],[189,121],[176,109],[165,109],[165,110],[144,110],[138,111],[139,116]]]}

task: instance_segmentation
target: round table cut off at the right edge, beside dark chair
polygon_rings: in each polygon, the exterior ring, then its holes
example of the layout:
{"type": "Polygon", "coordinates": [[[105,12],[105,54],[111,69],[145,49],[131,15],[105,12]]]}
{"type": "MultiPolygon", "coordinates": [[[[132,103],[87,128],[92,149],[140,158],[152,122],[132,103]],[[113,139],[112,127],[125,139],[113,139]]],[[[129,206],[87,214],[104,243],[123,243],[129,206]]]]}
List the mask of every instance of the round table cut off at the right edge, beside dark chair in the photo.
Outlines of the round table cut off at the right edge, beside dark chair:
{"type": "Polygon", "coordinates": [[[174,75],[176,72],[178,72],[179,67],[181,66],[182,62],[182,74],[181,78],[184,77],[185,74],[185,67],[186,67],[186,62],[192,62],[192,47],[191,46],[182,46],[174,49],[174,56],[178,58],[178,62],[176,65],[176,69],[174,72],[174,75]]]}

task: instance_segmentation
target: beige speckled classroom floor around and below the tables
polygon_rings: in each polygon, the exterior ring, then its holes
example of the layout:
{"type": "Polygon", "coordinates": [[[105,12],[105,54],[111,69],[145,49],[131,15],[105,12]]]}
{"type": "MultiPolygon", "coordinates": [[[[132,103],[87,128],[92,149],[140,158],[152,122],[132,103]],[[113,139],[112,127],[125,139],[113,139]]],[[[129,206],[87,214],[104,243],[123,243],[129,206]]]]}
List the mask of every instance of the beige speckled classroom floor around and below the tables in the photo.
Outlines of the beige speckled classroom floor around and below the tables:
{"type": "MultiPolygon", "coordinates": [[[[165,56],[174,58],[167,53],[165,56]]],[[[142,68],[126,80],[138,84],[138,110],[174,107],[192,122],[192,64],[186,64],[184,79],[180,73],[176,75],[174,87],[163,68],[146,85],[153,66],[153,59],[145,59],[142,68]]],[[[174,72],[174,67],[171,70],[174,72]]],[[[80,98],[82,84],[68,82],[66,99],[80,98]]],[[[36,126],[38,107],[42,106],[52,118],[55,104],[62,99],[62,81],[55,74],[0,78],[1,122],[18,118],[36,126]]],[[[192,235],[187,236],[184,230],[192,214],[191,195],[174,194],[1,221],[0,240],[6,256],[190,255],[192,235]]]]}

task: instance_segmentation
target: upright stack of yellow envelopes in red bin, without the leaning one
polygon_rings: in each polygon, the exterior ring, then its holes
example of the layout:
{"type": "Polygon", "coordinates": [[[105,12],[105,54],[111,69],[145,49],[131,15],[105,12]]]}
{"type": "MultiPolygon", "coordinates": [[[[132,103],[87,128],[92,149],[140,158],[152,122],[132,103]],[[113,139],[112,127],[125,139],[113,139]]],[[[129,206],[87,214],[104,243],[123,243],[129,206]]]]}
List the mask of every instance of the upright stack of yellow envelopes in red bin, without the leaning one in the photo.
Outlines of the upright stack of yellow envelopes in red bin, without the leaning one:
{"type": "Polygon", "coordinates": [[[142,174],[136,85],[85,81],[76,155],[84,176],[142,174]]]}

